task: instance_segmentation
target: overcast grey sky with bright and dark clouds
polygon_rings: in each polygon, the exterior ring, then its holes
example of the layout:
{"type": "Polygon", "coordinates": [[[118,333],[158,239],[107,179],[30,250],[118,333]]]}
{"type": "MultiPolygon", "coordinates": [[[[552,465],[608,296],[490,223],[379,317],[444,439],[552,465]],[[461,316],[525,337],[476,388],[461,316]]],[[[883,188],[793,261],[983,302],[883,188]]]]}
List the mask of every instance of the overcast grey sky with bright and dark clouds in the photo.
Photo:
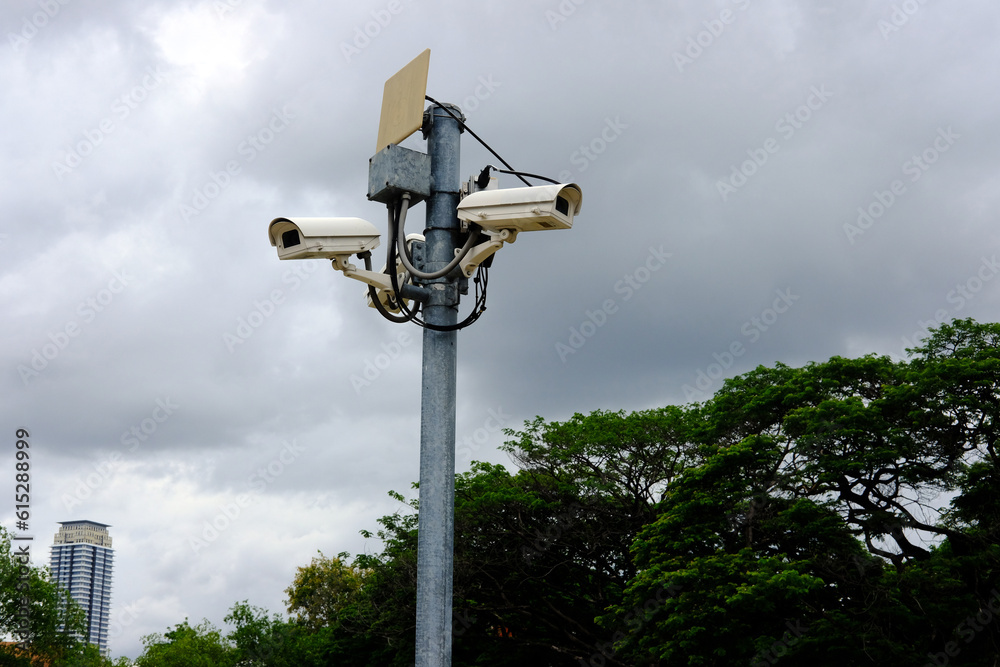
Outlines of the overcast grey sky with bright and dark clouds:
{"type": "MultiPolygon", "coordinates": [[[[992,0],[6,0],[3,525],[27,428],[34,561],[58,521],[110,524],[129,656],[239,600],[283,612],[317,550],[380,549],[359,531],[418,477],[421,330],[279,261],[267,225],[384,234],[382,87],[425,48],[429,95],[583,190],[572,230],[496,255],[459,334],[460,470],[509,463],[500,427],[535,415],[996,321],[998,23],[992,0]]],[[[488,163],[464,135],[463,177],[488,163]]]]}

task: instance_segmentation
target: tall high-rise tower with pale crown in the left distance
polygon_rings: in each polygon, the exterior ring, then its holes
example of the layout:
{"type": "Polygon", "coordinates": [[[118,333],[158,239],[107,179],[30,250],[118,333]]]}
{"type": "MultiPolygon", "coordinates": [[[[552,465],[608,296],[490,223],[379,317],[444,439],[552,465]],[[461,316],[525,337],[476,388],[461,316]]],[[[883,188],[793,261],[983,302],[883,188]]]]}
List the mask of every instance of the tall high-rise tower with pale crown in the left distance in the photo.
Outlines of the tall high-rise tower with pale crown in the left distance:
{"type": "Polygon", "coordinates": [[[49,561],[52,578],[87,614],[86,634],[80,639],[107,655],[114,561],[109,526],[95,521],[60,521],[59,525],[49,561]]]}

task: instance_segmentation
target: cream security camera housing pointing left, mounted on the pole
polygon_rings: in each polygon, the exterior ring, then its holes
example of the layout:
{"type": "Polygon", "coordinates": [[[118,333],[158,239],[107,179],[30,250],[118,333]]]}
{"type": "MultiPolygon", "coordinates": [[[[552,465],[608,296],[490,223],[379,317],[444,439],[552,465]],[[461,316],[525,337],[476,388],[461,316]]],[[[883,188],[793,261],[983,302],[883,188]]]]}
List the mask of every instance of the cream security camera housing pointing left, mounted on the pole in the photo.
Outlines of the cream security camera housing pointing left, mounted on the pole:
{"type": "Polygon", "coordinates": [[[267,228],[278,259],[356,255],[378,247],[375,225],[361,218],[275,218],[267,228]]]}

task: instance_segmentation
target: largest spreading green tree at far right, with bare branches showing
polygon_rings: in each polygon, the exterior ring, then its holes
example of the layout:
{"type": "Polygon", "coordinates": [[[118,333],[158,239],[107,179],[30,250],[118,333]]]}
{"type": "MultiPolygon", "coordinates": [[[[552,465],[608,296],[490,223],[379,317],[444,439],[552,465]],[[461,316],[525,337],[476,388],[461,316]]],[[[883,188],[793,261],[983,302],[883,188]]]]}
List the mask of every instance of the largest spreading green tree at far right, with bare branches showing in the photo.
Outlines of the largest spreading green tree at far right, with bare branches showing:
{"type": "Polygon", "coordinates": [[[638,574],[602,616],[616,655],[993,664],[1000,624],[963,623],[1000,609],[998,341],[956,321],[909,362],[758,368],[693,406],[705,461],[633,545],[638,574]]]}

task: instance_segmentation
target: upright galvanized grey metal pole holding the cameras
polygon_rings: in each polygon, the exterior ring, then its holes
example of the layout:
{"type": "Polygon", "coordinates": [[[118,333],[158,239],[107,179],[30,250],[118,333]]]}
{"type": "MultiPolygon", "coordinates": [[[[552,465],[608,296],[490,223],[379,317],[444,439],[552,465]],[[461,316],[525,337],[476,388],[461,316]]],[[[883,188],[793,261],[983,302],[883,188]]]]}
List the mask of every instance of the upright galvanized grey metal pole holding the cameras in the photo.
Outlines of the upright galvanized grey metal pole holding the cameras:
{"type": "MultiPolygon", "coordinates": [[[[446,105],[456,116],[462,113],[446,105]]],[[[459,146],[461,126],[438,106],[431,107],[428,154],[431,195],[424,230],[427,271],[455,257],[459,231],[459,146]]],[[[458,280],[431,281],[423,306],[429,324],[458,321],[458,280]]],[[[420,512],[417,537],[416,667],[451,665],[451,597],[455,540],[455,386],[457,332],[424,329],[420,395],[420,512]]]]}

